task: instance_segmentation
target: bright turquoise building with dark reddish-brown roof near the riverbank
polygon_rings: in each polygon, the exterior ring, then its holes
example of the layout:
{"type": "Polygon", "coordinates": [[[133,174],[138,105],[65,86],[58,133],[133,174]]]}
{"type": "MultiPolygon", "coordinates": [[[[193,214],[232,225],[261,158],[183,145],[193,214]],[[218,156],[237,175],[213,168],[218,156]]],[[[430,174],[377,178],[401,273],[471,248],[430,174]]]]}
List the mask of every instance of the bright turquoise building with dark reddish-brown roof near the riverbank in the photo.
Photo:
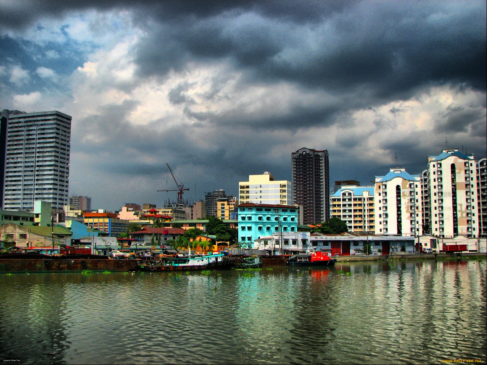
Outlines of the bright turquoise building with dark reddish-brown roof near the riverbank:
{"type": "Polygon", "coordinates": [[[298,231],[298,208],[282,204],[243,203],[239,208],[239,241],[252,247],[260,237],[298,231]],[[278,220],[279,218],[279,220],[278,220]]]}

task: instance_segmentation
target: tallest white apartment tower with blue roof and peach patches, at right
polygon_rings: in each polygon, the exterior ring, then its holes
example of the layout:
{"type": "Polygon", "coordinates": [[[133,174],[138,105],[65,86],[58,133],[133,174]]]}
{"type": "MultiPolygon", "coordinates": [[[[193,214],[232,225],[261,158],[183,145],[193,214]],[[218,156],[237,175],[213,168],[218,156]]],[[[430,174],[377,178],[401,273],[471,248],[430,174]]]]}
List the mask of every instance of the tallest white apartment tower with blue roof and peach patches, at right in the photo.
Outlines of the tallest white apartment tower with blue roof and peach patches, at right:
{"type": "Polygon", "coordinates": [[[424,224],[438,237],[478,237],[477,166],[472,154],[444,149],[428,156],[427,190],[430,215],[424,224]]]}

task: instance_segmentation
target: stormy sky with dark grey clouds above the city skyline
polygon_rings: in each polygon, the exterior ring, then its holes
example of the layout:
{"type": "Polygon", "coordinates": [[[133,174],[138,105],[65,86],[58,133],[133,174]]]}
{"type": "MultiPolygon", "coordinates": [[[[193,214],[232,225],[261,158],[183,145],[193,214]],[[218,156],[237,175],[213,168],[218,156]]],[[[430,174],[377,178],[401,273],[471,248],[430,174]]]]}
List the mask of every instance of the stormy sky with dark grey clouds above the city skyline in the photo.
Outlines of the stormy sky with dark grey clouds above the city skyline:
{"type": "Polygon", "coordinates": [[[73,117],[70,195],[199,200],[327,149],[367,185],[486,156],[486,1],[0,0],[0,108],[73,117]]]}

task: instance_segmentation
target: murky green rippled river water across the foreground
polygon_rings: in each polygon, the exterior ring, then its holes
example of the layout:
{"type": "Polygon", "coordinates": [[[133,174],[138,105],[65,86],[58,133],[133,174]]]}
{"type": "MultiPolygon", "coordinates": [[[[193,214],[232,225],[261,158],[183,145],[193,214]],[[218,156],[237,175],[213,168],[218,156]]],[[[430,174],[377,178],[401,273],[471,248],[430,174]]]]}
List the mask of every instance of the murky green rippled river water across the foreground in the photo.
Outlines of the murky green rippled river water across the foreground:
{"type": "Polygon", "coordinates": [[[2,274],[0,361],[486,362],[485,259],[252,273],[2,274]]]}

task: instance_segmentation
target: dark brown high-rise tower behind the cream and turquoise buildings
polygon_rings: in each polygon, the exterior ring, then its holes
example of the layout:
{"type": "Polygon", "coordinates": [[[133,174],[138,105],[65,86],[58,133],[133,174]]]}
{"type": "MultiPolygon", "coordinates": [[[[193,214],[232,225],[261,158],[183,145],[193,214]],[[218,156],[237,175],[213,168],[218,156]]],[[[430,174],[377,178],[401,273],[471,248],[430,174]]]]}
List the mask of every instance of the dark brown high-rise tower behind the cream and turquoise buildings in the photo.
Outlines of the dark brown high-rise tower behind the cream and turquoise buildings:
{"type": "Polygon", "coordinates": [[[303,223],[317,224],[330,217],[328,151],[300,148],[291,153],[293,205],[303,207],[303,223]]]}

